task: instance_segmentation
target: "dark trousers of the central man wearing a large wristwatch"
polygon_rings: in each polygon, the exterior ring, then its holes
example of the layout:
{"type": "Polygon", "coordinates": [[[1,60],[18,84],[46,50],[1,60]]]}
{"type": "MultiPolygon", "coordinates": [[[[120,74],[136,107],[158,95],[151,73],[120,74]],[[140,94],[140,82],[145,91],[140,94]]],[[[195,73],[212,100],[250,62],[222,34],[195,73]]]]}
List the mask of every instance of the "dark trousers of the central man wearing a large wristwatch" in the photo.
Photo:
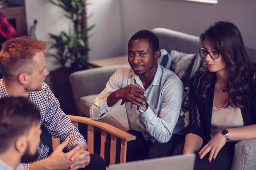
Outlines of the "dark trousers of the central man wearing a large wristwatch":
{"type": "MultiPolygon", "coordinates": [[[[135,130],[128,130],[127,133],[136,136],[136,140],[129,141],[127,143],[126,162],[170,156],[175,145],[181,137],[180,135],[175,134],[172,135],[172,138],[169,140],[169,142],[156,142],[154,144],[149,144],[148,141],[145,140],[141,132],[137,132],[135,130]]],[[[108,138],[105,142],[105,161],[107,166],[109,165],[110,159],[110,143],[111,138],[108,138]]],[[[120,149],[121,139],[117,139],[116,163],[120,162],[120,149]]]]}

